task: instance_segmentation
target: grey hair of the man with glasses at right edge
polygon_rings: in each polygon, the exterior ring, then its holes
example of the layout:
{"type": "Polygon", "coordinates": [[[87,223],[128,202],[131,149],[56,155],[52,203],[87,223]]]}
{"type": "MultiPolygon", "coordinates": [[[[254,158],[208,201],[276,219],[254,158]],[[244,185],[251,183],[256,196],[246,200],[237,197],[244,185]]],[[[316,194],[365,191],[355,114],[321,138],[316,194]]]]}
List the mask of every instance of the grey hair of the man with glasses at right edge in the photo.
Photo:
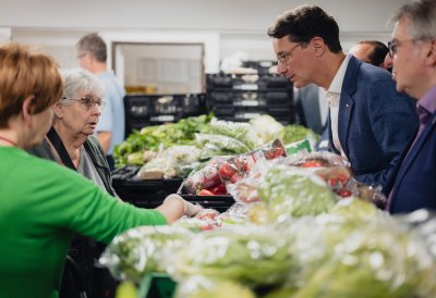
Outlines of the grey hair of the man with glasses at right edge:
{"type": "Polygon", "coordinates": [[[411,21],[409,34],[416,40],[436,38],[436,0],[414,0],[400,7],[391,17],[392,23],[407,17],[411,21]]]}

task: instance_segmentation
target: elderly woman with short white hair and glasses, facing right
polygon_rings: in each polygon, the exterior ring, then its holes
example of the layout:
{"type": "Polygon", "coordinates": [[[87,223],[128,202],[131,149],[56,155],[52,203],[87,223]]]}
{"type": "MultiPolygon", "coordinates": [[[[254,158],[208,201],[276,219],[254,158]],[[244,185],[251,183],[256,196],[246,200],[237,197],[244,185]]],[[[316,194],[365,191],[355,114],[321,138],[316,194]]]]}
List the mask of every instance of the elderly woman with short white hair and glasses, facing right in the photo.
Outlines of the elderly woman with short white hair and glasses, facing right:
{"type": "Polygon", "coordinates": [[[93,136],[105,105],[104,86],[85,70],[66,71],[63,78],[63,96],[52,108],[53,125],[41,144],[28,151],[77,171],[116,196],[105,153],[93,136]]]}

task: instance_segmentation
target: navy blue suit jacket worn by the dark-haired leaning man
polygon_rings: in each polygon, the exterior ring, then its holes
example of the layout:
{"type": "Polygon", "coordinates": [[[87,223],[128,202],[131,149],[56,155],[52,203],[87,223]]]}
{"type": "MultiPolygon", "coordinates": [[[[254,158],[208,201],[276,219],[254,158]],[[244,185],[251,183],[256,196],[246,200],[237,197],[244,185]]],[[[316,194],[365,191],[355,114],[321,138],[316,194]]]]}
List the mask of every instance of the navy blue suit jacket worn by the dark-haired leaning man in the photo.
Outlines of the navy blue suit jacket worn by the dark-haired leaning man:
{"type": "MultiPolygon", "coordinates": [[[[329,148],[332,144],[328,121],[329,148]]],[[[339,140],[355,178],[385,186],[419,127],[413,100],[396,91],[391,74],[350,58],[339,102],[339,140]]]]}

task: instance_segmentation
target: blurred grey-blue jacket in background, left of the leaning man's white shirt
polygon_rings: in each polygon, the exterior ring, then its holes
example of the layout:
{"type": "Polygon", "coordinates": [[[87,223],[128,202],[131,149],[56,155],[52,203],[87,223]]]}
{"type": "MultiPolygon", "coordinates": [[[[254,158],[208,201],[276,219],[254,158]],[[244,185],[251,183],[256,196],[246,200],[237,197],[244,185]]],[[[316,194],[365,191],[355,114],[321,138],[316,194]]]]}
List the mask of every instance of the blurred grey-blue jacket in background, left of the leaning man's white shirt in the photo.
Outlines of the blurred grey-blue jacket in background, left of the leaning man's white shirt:
{"type": "Polygon", "coordinates": [[[315,84],[307,85],[299,89],[295,97],[295,105],[300,124],[320,135],[325,125],[320,121],[318,97],[319,87],[315,84]]]}

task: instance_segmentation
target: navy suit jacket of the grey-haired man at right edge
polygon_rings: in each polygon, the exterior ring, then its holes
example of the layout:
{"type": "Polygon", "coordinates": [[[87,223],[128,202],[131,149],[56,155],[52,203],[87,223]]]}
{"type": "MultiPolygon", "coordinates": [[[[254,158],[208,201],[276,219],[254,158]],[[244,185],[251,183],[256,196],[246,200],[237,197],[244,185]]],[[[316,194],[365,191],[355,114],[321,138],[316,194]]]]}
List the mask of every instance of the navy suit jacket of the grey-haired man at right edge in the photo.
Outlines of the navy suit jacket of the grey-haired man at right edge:
{"type": "Polygon", "coordinates": [[[398,162],[398,173],[385,189],[386,194],[393,191],[389,211],[404,213],[421,208],[436,211],[436,113],[408,152],[404,150],[407,157],[402,163],[398,162]]]}

